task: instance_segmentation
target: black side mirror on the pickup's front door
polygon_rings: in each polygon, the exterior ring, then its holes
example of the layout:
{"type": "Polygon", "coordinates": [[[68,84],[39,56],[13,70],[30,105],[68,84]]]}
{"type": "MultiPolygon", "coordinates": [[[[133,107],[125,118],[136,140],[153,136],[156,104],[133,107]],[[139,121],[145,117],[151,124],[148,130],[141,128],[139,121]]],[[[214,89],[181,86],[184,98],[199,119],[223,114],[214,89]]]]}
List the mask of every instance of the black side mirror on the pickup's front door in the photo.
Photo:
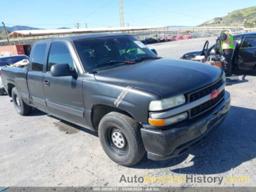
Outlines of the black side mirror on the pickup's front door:
{"type": "Polygon", "coordinates": [[[76,71],[70,70],[70,66],[67,63],[53,65],[50,72],[54,77],[77,76],[76,71]]]}

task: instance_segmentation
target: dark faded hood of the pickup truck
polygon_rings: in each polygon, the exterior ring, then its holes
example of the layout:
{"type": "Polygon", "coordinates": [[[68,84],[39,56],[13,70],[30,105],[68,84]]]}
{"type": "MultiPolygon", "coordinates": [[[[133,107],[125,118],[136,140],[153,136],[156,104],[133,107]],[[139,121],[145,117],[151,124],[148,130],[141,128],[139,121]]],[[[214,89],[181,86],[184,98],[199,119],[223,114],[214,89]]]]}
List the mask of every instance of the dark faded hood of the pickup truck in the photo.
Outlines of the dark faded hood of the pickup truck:
{"type": "Polygon", "coordinates": [[[94,74],[96,80],[140,88],[162,98],[197,90],[218,80],[221,75],[222,69],[216,66],[164,58],[94,74]]]}

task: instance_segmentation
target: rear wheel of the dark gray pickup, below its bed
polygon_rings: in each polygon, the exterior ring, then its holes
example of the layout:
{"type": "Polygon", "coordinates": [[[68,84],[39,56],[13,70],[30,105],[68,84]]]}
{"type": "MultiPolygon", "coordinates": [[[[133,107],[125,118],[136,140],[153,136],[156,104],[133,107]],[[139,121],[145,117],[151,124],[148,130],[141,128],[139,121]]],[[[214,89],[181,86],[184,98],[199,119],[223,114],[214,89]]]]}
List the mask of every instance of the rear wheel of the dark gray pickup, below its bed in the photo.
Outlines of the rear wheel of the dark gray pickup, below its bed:
{"type": "Polygon", "coordinates": [[[14,104],[14,107],[18,114],[24,116],[32,111],[32,107],[28,106],[24,101],[22,100],[20,93],[18,90],[14,87],[12,89],[12,102],[14,104]]]}

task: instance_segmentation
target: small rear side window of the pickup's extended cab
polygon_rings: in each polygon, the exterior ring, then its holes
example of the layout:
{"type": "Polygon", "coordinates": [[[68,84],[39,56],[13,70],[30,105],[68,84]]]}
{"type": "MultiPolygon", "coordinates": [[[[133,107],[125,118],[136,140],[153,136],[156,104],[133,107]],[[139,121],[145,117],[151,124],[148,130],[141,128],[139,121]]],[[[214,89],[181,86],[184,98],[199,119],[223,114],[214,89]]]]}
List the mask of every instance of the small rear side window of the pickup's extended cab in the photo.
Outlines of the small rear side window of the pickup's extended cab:
{"type": "Polygon", "coordinates": [[[37,44],[32,54],[32,70],[41,72],[44,66],[46,44],[37,44]]]}

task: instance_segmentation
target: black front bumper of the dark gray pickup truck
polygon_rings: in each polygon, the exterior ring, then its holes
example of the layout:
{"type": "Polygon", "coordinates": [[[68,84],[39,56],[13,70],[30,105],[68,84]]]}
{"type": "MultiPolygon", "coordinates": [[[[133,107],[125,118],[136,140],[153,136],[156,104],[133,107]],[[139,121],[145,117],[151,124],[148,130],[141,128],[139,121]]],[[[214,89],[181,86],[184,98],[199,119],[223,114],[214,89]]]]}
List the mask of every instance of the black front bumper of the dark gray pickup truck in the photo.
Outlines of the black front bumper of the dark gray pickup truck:
{"type": "Polygon", "coordinates": [[[148,158],[151,160],[166,160],[196,146],[222,124],[229,110],[230,94],[225,92],[224,100],[210,114],[194,122],[170,130],[142,128],[141,135],[148,158]]]}

